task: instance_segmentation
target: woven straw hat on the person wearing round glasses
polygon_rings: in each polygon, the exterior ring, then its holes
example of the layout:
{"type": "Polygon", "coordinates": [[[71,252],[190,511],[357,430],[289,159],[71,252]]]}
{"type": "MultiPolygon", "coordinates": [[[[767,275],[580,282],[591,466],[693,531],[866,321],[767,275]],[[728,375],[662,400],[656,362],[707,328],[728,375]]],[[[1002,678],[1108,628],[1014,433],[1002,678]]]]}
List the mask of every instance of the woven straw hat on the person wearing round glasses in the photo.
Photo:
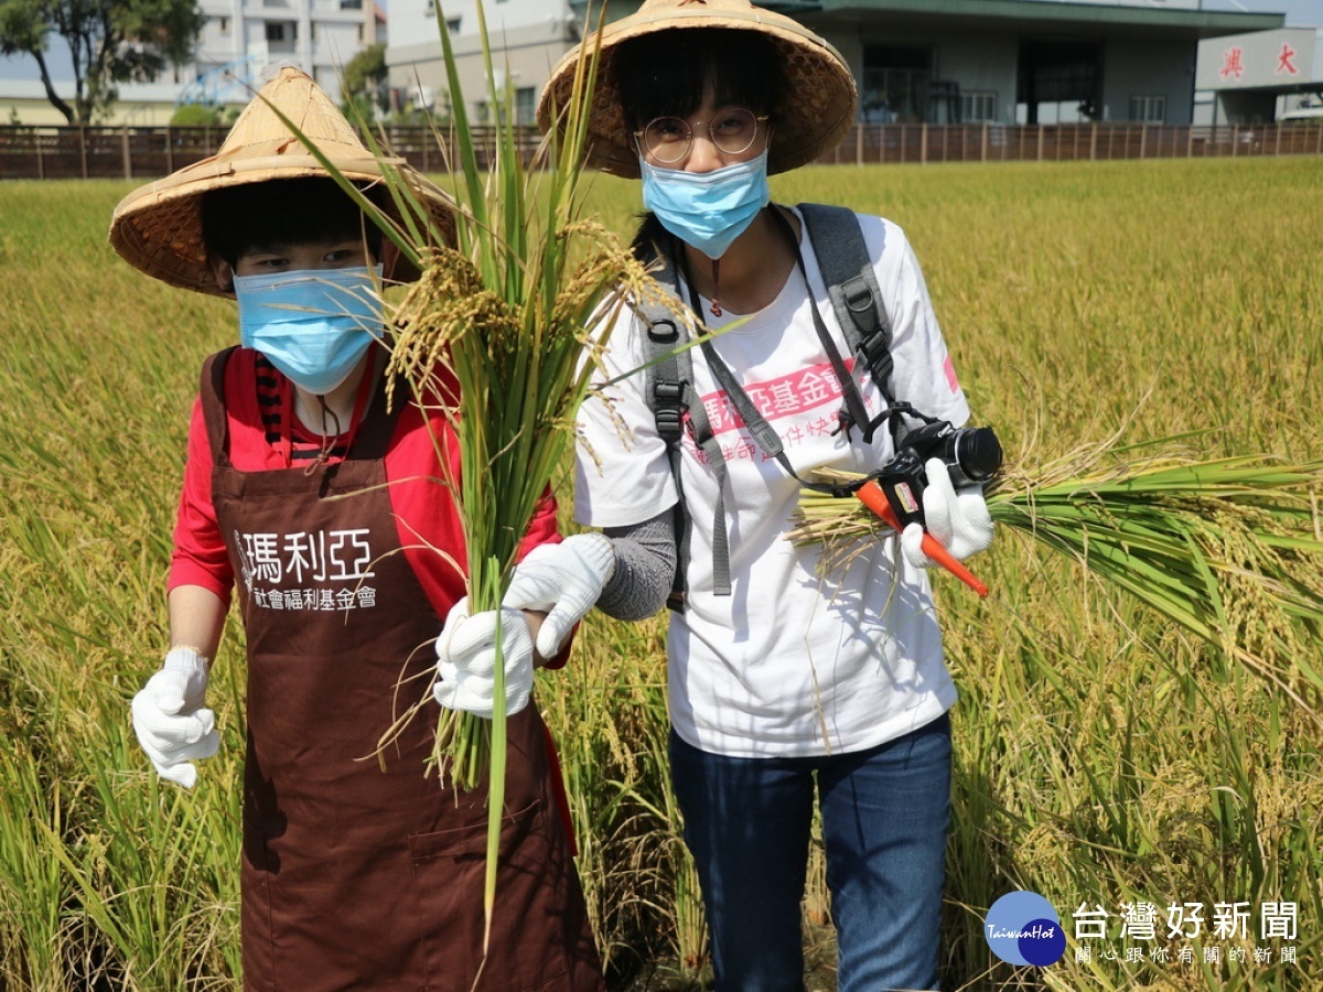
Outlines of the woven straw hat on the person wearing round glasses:
{"type": "Polygon", "coordinates": [[[611,61],[622,41],[685,28],[755,30],[775,42],[785,73],[785,97],[781,106],[771,108],[769,172],[786,172],[814,161],[835,148],[855,123],[859,97],[845,60],[824,38],[790,17],[763,11],[749,0],[646,0],[636,13],[607,24],[557,63],[537,106],[538,126],[550,130],[553,116],[569,104],[576,66],[601,40],[585,160],[603,172],[638,179],[638,151],[624,122],[611,61]]]}

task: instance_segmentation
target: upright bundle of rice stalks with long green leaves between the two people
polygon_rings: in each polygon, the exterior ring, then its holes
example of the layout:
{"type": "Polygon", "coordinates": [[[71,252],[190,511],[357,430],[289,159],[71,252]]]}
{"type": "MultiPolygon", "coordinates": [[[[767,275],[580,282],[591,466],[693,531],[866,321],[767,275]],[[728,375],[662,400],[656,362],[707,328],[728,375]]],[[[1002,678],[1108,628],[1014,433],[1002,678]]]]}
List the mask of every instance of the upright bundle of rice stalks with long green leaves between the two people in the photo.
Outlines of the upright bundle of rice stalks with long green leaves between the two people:
{"type": "MultiPolygon", "coordinates": [[[[476,5],[486,63],[487,104],[513,107],[511,73],[497,74],[483,5],[476,5]],[[505,79],[504,89],[497,79],[505,79]]],[[[438,16],[438,25],[445,19],[438,16]]],[[[377,155],[401,222],[368,201],[315,147],[310,151],[341,189],[421,271],[393,308],[388,390],[405,393],[425,409],[439,409],[459,443],[460,475],[438,479],[454,496],[467,561],[454,562],[467,577],[471,614],[496,610],[509,586],[515,558],[529,522],[549,491],[553,474],[574,442],[574,422],[606,336],[619,308],[669,296],[630,249],[605,226],[581,216],[582,159],[597,53],[579,60],[564,127],[525,163],[513,114],[499,114],[495,138],[483,142],[490,167],[479,165],[479,140],[470,126],[450,33],[439,30],[451,94],[448,135],[437,134],[455,190],[455,246],[435,226],[415,190],[380,147],[377,155]],[[591,329],[591,331],[590,331],[591,329]],[[458,386],[458,389],[456,389],[458,386]]],[[[283,115],[282,115],[283,116],[283,115]]],[[[287,126],[299,134],[286,119],[287,126]]],[[[302,134],[300,134],[302,139],[302,134]]],[[[439,444],[441,439],[434,438],[439,444]]],[[[450,462],[438,456],[442,466],[450,462]]],[[[438,553],[445,554],[443,549],[438,553]]],[[[497,641],[495,698],[505,698],[497,641]]],[[[426,692],[381,746],[409,720],[427,710],[426,692]]],[[[490,935],[496,891],[497,843],[504,813],[507,718],[496,706],[491,721],[442,709],[434,759],[455,787],[488,782],[487,878],[484,903],[490,935]]],[[[484,942],[486,946],[486,942],[484,942]]]]}

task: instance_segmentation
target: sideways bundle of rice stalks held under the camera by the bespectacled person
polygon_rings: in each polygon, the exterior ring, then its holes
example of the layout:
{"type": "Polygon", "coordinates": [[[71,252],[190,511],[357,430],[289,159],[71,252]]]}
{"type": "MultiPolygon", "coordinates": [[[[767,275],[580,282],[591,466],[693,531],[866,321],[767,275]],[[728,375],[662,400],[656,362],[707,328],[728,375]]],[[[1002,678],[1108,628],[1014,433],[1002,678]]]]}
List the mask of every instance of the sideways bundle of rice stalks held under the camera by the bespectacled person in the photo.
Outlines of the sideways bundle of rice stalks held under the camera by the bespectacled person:
{"type": "MultiPolygon", "coordinates": [[[[1012,466],[987,487],[988,509],[998,524],[1225,651],[1318,718],[1323,462],[1160,454],[1175,440],[1099,446],[1036,470],[1012,466]]],[[[893,534],[857,500],[804,489],[791,538],[820,542],[830,570],[860,541],[893,534]]]]}

